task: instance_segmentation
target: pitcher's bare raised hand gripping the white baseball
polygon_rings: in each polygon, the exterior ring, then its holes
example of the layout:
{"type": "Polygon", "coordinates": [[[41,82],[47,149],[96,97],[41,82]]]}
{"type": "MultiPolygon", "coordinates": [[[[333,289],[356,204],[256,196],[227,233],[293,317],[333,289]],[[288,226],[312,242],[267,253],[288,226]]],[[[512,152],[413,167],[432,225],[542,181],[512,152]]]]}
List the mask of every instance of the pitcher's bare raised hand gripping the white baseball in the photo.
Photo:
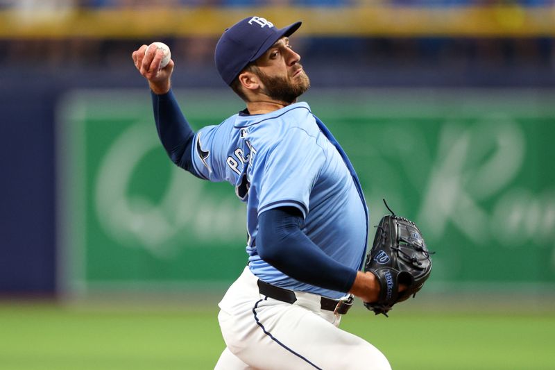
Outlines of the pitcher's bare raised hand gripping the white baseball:
{"type": "Polygon", "coordinates": [[[160,62],[164,53],[162,50],[151,48],[146,52],[147,45],[142,45],[139,49],[133,51],[131,58],[135,63],[137,70],[146,78],[149,87],[155,94],[166,94],[171,87],[170,77],[173,73],[173,60],[168,65],[160,69],[160,62]]]}

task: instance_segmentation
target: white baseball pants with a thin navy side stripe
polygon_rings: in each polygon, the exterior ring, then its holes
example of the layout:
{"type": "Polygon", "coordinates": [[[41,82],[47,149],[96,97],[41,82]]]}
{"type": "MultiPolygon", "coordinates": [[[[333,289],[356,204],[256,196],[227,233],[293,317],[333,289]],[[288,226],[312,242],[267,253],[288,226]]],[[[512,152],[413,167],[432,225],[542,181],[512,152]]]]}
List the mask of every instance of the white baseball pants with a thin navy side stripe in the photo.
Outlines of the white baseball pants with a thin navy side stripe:
{"type": "Polygon", "coordinates": [[[214,370],[391,370],[372,344],[338,328],[320,296],[296,292],[285,303],[259,294],[248,267],[219,303],[226,348],[214,370]]]}

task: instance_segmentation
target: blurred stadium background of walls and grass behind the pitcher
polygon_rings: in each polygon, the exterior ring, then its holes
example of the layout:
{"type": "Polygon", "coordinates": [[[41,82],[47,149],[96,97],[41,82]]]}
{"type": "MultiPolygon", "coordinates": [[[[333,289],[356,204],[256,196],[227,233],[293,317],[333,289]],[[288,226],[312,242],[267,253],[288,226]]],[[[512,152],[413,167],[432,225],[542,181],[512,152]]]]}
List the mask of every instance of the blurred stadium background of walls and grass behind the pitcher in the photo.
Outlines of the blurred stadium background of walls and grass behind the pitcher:
{"type": "Polygon", "coordinates": [[[418,299],[343,328],[394,369],[553,369],[552,0],[0,0],[0,369],[213,367],[244,210],[170,165],[130,53],[169,44],[217,124],[242,104],[212,53],[248,15],[304,22],[304,99],[373,223],[386,197],[437,252],[418,299]]]}

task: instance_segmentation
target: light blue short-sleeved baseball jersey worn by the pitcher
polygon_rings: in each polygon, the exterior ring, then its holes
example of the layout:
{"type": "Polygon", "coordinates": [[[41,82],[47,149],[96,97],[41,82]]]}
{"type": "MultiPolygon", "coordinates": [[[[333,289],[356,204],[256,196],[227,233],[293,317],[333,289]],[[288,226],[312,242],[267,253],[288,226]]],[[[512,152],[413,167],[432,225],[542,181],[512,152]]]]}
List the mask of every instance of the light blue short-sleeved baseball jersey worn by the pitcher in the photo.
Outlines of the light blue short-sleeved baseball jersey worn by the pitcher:
{"type": "Polygon", "coordinates": [[[361,269],[368,237],[366,203],[356,174],[326,131],[301,102],[265,115],[233,115],[202,128],[191,150],[198,176],[228,181],[247,203],[246,251],[253,274],[279,287],[340,298],[345,294],[283,274],[259,258],[256,246],[259,215],[292,206],[302,212],[303,231],[312,242],[337,262],[361,269]]]}

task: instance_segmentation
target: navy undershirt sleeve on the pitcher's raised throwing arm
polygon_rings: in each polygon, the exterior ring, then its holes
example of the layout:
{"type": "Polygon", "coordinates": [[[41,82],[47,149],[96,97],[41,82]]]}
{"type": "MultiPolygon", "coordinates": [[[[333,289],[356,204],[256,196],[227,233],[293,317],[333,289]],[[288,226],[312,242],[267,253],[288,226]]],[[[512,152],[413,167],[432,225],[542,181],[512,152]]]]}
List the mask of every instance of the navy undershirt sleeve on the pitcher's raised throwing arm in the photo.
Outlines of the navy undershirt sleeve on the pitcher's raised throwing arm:
{"type": "Polygon", "coordinates": [[[172,90],[157,95],[151,92],[158,137],[173,163],[202,178],[193,167],[191,147],[194,131],[181,112],[172,90]]]}

